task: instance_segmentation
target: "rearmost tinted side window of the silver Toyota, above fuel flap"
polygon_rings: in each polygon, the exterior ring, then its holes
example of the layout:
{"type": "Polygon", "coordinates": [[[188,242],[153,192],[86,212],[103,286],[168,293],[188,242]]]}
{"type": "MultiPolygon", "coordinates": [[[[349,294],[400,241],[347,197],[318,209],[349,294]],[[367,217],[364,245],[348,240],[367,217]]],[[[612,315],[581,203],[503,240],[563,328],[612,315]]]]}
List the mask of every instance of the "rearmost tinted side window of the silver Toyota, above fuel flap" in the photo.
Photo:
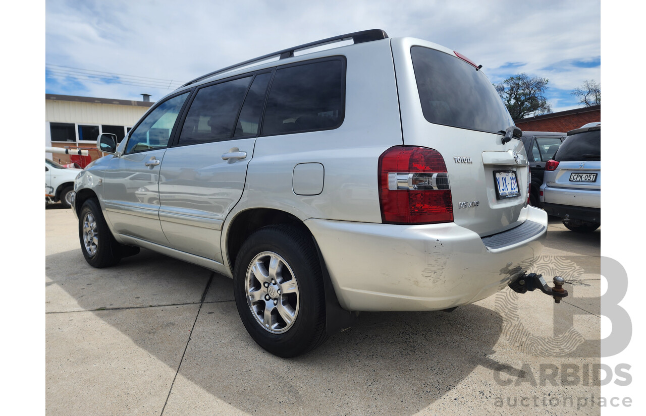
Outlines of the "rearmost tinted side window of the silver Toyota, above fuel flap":
{"type": "Polygon", "coordinates": [[[262,135],[326,130],[343,121],[343,65],[318,61],[276,70],[262,135]]]}

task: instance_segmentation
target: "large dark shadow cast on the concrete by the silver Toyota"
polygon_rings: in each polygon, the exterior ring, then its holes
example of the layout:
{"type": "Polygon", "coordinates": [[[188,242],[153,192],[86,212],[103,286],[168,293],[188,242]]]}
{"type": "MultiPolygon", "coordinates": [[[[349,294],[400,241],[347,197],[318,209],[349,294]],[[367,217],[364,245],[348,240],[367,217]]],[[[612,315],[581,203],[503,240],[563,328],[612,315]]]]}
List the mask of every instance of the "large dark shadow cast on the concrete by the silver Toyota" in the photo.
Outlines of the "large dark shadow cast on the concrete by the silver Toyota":
{"type": "MultiPolygon", "coordinates": [[[[182,335],[189,344],[165,413],[173,413],[178,401],[189,401],[193,393],[187,380],[247,413],[272,413],[276,406],[291,405],[282,411],[412,415],[450,394],[479,366],[491,370],[499,366],[488,356],[501,336],[501,316],[474,304],[452,313],[362,313],[353,328],[334,334],[317,350],[281,359],[258,347],[245,331],[227,277],[147,250],[99,272],[85,264],[80,250],[49,255],[46,266],[48,284],[57,284],[82,310],[92,311],[173,370],[182,352],[167,342],[167,334],[154,330],[169,328],[168,312],[154,312],[161,310],[154,308],[160,304],[160,291],[176,293],[185,286],[200,286],[201,293],[193,291],[192,307],[197,310],[210,281],[190,341],[182,335]],[[67,267],[52,267],[55,264],[67,267]],[[130,279],[137,282],[137,304],[145,306],[132,309],[124,301],[130,292],[124,283],[130,279]],[[99,281],[110,283],[102,284],[101,293],[94,296],[86,293],[89,284],[99,287],[99,281]],[[114,309],[105,309],[109,304],[114,309]]],[[[475,382],[473,388],[490,389],[489,383],[475,382]]],[[[208,406],[209,400],[202,404],[208,406]]]]}

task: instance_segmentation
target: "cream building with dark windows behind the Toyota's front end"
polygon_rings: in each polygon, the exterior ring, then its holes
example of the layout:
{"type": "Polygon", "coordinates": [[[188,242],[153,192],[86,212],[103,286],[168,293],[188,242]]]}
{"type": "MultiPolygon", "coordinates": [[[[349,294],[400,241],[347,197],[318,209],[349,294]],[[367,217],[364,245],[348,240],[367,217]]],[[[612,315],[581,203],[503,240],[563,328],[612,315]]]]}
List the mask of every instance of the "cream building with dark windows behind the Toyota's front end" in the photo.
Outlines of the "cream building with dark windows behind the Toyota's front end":
{"type": "MultiPolygon", "coordinates": [[[[92,159],[99,157],[96,139],[101,133],[116,134],[119,141],[152,106],[145,101],[76,97],[45,94],[45,146],[88,148],[92,159]],[[94,152],[92,152],[94,150],[94,152]]],[[[46,157],[52,159],[52,154],[46,157]]],[[[67,155],[56,155],[56,161],[67,163],[67,155]]]]}

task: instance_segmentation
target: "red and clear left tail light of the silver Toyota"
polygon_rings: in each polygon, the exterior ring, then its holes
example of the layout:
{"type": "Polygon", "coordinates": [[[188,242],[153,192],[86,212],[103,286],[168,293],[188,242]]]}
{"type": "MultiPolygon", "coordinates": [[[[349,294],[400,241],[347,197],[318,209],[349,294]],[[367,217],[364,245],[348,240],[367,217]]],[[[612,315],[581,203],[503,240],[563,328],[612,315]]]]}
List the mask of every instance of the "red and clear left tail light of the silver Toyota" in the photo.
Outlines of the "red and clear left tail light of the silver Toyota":
{"type": "Polygon", "coordinates": [[[379,157],[379,203],[387,224],[453,221],[446,164],[437,150],[393,146],[379,157]]]}

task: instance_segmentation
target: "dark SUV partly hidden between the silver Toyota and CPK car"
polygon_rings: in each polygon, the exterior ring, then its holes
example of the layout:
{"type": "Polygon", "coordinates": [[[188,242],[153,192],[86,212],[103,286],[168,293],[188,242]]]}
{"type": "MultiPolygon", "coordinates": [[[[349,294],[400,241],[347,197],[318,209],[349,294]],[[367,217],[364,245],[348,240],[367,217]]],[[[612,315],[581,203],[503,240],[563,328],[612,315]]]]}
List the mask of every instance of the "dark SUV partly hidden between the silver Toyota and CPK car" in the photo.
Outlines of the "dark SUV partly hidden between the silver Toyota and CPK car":
{"type": "Polygon", "coordinates": [[[530,188],[530,204],[542,208],[539,199],[539,189],[543,184],[545,163],[554,157],[559,146],[565,139],[565,133],[555,132],[523,132],[523,145],[532,170],[532,184],[530,188]]]}

